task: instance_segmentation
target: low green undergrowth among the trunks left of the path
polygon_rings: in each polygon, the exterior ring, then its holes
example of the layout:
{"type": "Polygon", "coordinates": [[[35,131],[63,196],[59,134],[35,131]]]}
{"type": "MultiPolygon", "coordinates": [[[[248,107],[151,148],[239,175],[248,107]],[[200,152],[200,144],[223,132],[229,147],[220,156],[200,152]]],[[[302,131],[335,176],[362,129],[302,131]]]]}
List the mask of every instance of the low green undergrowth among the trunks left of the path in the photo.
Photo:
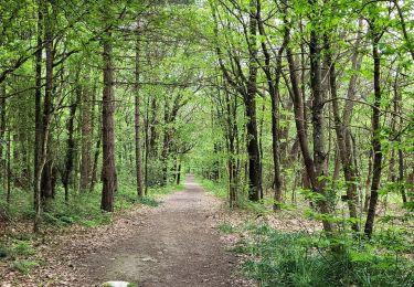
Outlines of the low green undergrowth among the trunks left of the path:
{"type": "MultiPolygon", "coordinates": [[[[135,184],[119,185],[115,194],[115,211],[128,210],[136,204],[156,208],[161,203],[161,195],[181,190],[182,188],[182,185],[150,188],[148,189],[148,194],[139,199],[135,184]]],[[[93,192],[76,192],[75,194],[71,194],[70,201],[66,203],[63,190],[57,188],[55,199],[42,212],[43,226],[64,228],[73,224],[78,224],[94,227],[109,223],[112,214],[100,210],[100,190],[102,187],[97,184],[93,192]]],[[[0,192],[0,198],[3,198],[1,195],[0,192]]],[[[14,222],[32,221],[34,217],[32,200],[33,195],[31,192],[14,190],[11,199],[12,204],[8,206],[3,200],[0,200],[1,217],[8,221],[10,225],[13,225],[14,222]]]]}

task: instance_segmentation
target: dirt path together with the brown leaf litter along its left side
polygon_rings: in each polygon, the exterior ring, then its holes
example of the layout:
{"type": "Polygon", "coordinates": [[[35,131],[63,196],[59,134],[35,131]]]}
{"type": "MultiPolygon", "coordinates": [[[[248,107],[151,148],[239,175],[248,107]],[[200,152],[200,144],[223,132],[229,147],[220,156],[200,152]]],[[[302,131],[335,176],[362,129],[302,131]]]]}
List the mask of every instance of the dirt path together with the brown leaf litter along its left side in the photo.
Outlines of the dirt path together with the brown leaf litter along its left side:
{"type": "Polygon", "coordinates": [[[253,286],[215,228],[220,205],[190,176],[185,190],[167,195],[159,208],[140,208],[109,226],[45,244],[44,266],[29,277],[2,274],[0,286],[253,286]]]}

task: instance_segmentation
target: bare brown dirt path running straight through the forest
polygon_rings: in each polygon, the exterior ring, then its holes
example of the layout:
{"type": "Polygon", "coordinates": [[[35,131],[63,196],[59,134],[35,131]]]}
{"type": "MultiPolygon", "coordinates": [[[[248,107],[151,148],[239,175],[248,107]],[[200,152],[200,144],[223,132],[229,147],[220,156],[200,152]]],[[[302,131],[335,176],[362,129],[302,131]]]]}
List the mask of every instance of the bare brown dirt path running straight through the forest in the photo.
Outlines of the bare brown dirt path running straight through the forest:
{"type": "Polygon", "coordinates": [[[82,259],[87,278],[91,284],[126,280],[139,287],[245,286],[237,279],[237,259],[209,222],[219,205],[188,176],[184,191],[137,219],[144,226],[82,259]]]}

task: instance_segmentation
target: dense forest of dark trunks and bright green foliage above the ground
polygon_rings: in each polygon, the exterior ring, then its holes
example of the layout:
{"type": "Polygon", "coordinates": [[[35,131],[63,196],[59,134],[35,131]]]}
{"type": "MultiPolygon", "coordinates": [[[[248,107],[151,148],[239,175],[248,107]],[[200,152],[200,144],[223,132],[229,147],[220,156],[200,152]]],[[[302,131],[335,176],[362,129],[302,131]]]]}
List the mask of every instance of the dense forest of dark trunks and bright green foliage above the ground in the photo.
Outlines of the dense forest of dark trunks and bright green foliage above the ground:
{"type": "Polygon", "coordinates": [[[412,280],[413,7],[1,0],[0,232],[105,221],[191,172],[412,280]]]}

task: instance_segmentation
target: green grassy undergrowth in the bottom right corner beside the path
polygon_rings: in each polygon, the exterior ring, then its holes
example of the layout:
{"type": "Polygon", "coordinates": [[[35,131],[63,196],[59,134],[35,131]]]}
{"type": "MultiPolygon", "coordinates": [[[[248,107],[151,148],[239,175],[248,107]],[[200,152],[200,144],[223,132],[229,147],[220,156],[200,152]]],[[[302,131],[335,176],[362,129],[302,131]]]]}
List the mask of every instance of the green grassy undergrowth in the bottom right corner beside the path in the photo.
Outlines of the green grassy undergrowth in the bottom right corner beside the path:
{"type": "Polygon", "coordinates": [[[234,252],[248,255],[243,272],[263,287],[414,286],[414,265],[404,257],[412,249],[408,243],[395,243],[395,234],[381,233],[367,242],[349,234],[328,238],[268,225],[250,224],[243,230],[250,236],[234,252]]]}

